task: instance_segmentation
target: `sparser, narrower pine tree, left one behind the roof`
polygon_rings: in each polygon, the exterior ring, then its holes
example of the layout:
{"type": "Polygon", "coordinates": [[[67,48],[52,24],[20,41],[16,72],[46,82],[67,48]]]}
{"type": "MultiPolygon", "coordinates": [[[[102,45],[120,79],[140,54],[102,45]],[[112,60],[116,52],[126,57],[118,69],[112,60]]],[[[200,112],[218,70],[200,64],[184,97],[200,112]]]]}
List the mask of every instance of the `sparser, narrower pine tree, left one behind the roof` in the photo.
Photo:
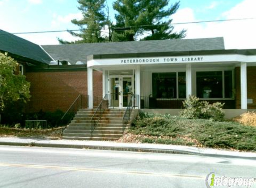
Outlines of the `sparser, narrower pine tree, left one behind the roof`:
{"type": "Polygon", "coordinates": [[[72,31],[68,32],[75,37],[82,38],[81,40],[68,42],[58,38],[61,44],[69,43],[93,43],[103,42],[104,37],[101,36],[101,29],[107,24],[105,16],[105,0],[78,0],[80,7],[78,9],[83,13],[82,20],[71,20],[71,22],[80,27],[80,33],[72,31]]]}

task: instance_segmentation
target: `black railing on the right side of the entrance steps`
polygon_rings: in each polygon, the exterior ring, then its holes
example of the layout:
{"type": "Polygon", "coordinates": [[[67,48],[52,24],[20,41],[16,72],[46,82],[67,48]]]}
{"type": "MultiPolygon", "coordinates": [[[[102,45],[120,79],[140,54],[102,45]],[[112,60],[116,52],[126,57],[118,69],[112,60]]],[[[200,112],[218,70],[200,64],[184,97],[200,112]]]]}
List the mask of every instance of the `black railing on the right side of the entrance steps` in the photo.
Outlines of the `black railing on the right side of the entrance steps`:
{"type": "Polygon", "coordinates": [[[123,116],[123,134],[124,134],[124,131],[126,129],[128,122],[130,121],[130,115],[131,115],[132,109],[134,107],[138,107],[138,95],[137,94],[131,95],[130,101],[127,105],[125,114],[123,116]]]}

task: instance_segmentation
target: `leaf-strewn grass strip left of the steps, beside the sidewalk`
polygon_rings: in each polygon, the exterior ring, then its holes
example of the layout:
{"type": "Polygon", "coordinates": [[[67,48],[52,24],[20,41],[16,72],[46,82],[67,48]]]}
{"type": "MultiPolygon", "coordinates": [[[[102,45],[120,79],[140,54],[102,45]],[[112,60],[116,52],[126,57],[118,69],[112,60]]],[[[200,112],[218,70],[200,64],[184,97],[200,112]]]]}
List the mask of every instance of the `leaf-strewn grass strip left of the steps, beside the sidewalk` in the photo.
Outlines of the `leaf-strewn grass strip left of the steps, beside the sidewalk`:
{"type": "Polygon", "coordinates": [[[0,127],[0,137],[51,137],[52,139],[58,139],[60,137],[61,128],[50,129],[21,129],[11,127],[0,127]]]}

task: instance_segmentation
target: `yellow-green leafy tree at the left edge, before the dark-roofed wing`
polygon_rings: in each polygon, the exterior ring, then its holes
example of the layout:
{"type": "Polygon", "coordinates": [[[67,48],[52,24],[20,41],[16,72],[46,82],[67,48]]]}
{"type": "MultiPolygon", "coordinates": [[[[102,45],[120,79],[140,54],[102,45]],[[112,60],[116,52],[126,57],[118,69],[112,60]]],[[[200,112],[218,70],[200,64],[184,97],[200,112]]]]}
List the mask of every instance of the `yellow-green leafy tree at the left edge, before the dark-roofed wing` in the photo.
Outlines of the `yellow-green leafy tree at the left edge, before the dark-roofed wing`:
{"type": "Polygon", "coordinates": [[[7,104],[29,100],[30,83],[25,80],[22,74],[15,74],[17,61],[8,57],[7,53],[0,53],[0,111],[4,110],[7,104]]]}

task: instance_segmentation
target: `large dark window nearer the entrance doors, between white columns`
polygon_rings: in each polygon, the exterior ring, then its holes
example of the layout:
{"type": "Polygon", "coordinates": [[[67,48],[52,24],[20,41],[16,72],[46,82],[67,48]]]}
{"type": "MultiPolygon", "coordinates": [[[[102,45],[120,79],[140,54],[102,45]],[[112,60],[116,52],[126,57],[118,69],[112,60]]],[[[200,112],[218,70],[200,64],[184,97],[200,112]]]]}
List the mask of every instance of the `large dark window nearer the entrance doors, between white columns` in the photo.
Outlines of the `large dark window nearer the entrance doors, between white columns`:
{"type": "Polygon", "coordinates": [[[152,73],[152,94],[155,98],[186,98],[185,72],[152,73]]]}

